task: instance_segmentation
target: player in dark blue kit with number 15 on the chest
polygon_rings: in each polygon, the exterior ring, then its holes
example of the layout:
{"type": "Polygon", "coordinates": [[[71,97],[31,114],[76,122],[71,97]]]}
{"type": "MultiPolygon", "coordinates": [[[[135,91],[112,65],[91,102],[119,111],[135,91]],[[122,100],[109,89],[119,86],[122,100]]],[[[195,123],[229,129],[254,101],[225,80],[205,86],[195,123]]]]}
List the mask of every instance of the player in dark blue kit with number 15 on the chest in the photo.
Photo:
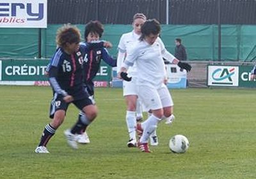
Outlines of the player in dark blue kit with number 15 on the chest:
{"type": "Polygon", "coordinates": [[[65,131],[68,145],[77,148],[75,136],[82,129],[86,128],[97,116],[97,108],[92,104],[83,84],[83,57],[93,46],[103,47],[104,42],[88,45],[87,48],[80,48],[81,34],[77,27],[64,25],[60,27],[56,35],[58,48],[54,53],[49,66],[49,82],[54,91],[54,98],[51,101],[52,121],[45,126],[40,143],[36,147],[36,153],[47,154],[48,141],[62,124],[70,103],[73,103],[86,115],[79,118],[76,124],[65,131]]]}

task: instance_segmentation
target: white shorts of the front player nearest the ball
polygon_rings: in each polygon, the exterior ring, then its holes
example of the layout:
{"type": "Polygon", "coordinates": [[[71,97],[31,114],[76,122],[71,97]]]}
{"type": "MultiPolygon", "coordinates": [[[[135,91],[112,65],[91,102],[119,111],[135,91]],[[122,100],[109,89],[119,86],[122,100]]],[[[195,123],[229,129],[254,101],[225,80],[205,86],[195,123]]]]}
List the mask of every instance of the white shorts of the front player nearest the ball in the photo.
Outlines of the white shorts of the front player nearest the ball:
{"type": "Polygon", "coordinates": [[[158,89],[148,85],[138,85],[137,90],[138,96],[147,111],[173,106],[172,96],[164,84],[158,89]]]}

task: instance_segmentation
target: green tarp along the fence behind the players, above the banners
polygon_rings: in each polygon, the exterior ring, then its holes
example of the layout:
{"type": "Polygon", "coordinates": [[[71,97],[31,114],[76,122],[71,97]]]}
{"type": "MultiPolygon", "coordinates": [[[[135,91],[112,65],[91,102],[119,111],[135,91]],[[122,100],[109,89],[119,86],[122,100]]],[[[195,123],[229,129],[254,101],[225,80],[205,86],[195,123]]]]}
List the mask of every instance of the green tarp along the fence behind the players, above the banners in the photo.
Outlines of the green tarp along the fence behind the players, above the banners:
{"type": "MultiPolygon", "coordinates": [[[[53,54],[56,43],[56,30],[61,25],[48,25],[42,29],[42,57],[53,54]]],[[[83,37],[84,25],[77,25],[83,37]]],[[[124,32],[132,30],[131,25],[104,25],[102,39],[111,41],[113,48],[109,53],[117,54],[117,45],[124,32]]],[[[0,28],[0,57],[37,57],[38,29],[0,28]]],[[[84,37],[83,37],[84,38],[84,37]]],[[[174,53],[174,40],[181,38],[186,47],[189,60],[217,61],[217,25],[162,25],[161,38],[174,53]]],[[[256,25],[222,25],[221,59],[223,61],[253,61],[256,58],[256,25]]]]}

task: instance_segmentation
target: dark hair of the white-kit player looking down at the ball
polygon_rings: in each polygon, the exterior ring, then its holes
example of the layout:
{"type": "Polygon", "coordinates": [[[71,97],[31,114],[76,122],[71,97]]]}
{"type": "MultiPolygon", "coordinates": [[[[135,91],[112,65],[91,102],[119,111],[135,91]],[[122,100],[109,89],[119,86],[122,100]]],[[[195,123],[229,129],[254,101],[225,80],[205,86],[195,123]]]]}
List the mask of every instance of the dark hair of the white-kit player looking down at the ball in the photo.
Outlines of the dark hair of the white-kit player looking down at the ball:
{"type": "Polygon", "coordinates": [[[159,34],[160,31],[160,23],[155,18],[146,20],[146,22],[141,26],[140,40],[143,40],[145,36],[149,36],[150,34],[159,34]]]}

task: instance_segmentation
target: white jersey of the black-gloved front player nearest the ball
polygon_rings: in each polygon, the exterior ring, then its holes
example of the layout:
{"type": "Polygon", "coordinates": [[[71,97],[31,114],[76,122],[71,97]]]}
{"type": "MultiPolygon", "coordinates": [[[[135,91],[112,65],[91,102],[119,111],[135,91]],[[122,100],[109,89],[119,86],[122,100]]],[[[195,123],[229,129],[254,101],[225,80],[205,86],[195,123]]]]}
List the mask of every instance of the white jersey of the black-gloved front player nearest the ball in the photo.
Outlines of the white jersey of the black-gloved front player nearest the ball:
{"type": "MultiPolygon", "coordinates": [[[[124,61],[125,68],[137,65],[137,84],[151,85],[152,87],[161,87],[165,76],[165,67],[163,57],[173,62],[175,57],[164,47],[163,41],[157,38],[153,45],[146,41],[138,41],[134,48],[127,54],[124,61]]],[[[127,72],[129,73],[129,71],[127,72]]]]}

